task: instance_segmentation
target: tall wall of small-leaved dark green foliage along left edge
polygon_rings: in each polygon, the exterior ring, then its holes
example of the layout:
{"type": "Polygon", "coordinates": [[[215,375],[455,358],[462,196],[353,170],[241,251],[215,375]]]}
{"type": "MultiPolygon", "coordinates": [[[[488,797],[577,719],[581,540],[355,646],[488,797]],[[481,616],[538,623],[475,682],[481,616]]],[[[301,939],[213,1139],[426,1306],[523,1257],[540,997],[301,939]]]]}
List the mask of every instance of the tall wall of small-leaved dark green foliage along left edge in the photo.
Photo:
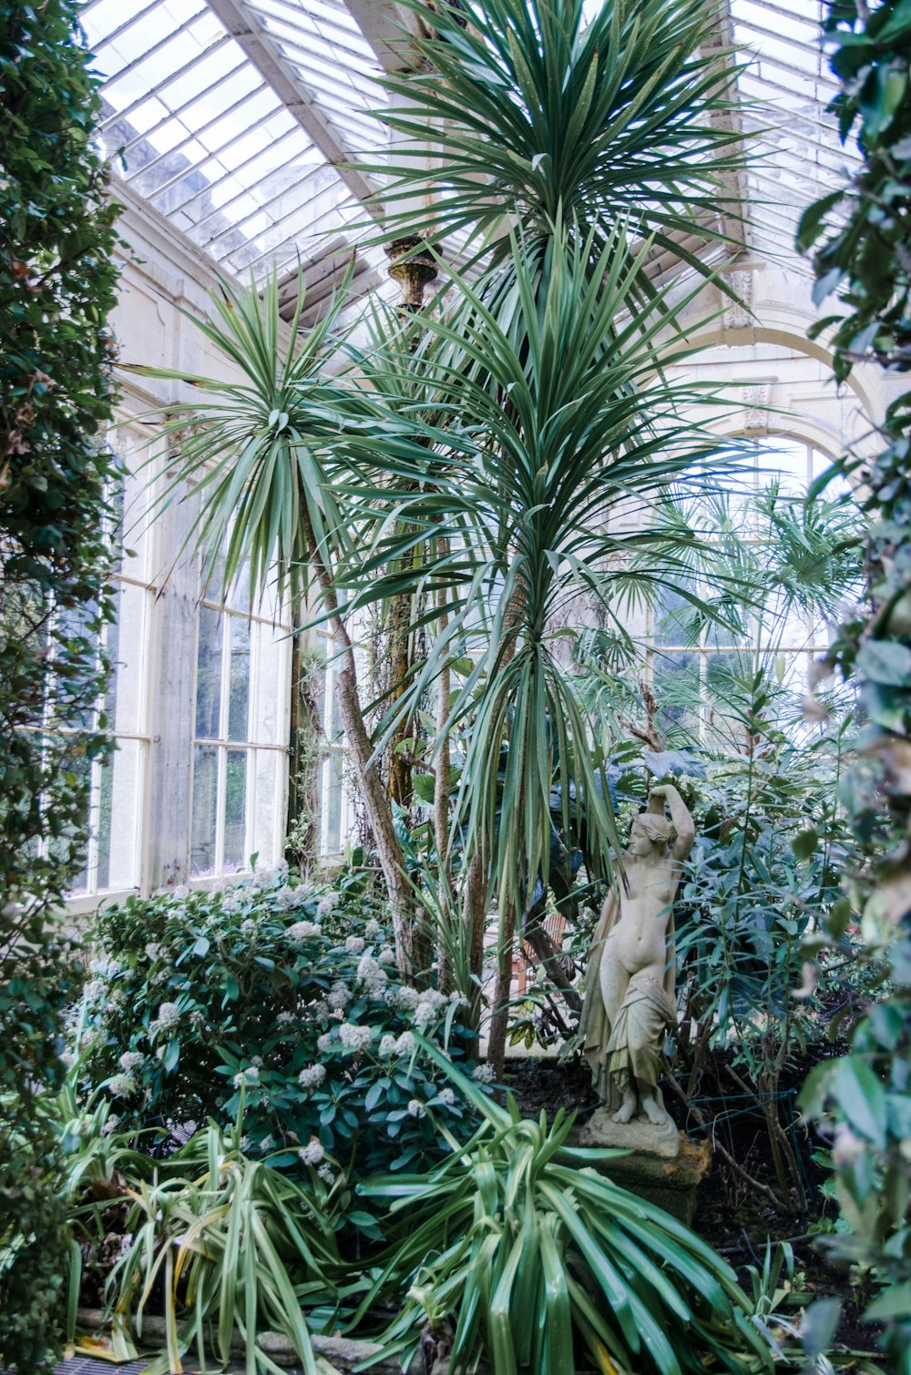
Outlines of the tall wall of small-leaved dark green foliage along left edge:
{"type": "Polygon", "coordinates": [[[56,1342],[62,1214],[43,1094],[74,993],[56,932],[103,755],[102,451],[116,208],[92,146],[96,81],[76,0],[0,3],[0,1354],[56,1342]]]}

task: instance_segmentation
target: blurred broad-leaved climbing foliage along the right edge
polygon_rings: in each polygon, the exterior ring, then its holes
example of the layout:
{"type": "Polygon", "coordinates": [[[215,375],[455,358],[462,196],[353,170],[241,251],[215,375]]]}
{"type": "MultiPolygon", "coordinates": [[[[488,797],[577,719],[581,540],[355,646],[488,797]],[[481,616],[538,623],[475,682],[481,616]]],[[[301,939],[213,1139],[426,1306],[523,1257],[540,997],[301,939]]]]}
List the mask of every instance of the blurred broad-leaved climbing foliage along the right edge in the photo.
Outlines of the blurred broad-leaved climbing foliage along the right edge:
{"type": "MultiPolygon", "coordinates": [[[[837,0],[824,23],[841,82],[842,140],[856,132],[863,166],[812,205],[798,242],[815,246],[816,298],[838,293],[835,373],[859,360],[911,371],[911,0],[837,0]]],[[[861,864],[848,876],[871,956],[890,969],[888,997],[855,1028],[850,1055],[820,1067],[805,1106],[835,1123],[834,1162],[852,1228],[841,1250],[874,1266],[867,1310],[885,1324],[896,1372],[911,1372],[911,392],[892,403],[883,447],[859,473],[868,492],[868,613],[842,626],[834,663],[853,675],[870,720],[844,791],[861,864]]],[[[857,469],[845,461],[845,469],[857,469]]],[[[841,932],[838,920],[834,936],[841,932]]]]}

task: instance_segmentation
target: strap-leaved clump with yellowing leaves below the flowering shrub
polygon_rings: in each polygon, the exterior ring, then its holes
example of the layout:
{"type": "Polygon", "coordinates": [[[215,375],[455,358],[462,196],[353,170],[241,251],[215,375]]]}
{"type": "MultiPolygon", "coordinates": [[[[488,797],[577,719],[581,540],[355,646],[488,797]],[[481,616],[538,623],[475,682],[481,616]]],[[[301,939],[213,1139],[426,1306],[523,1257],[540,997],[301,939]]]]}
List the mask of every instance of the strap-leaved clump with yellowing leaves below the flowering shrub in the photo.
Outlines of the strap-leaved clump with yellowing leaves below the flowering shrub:
{"type": "MultiPolygon", "coordinates": [[[[182,1370],[194,1350],[200,1365],[231,1358],[244,1341],[248,1375],[278,1367],[257,1345],[266,1328],[292,1342],[304,1375],[330,1375],[315,1356],[303,1308],[337,1305],[336,1236],[319,1200],[263,1160],[249,1160],[239,1125],[197,1132],[167,1160],[146,1160],[121,1181],[114,1199],[77,1204],[85,1224],[117,1204],[125,1209],[127,1247],[107,1279],[114,1342],[142,1346],[149,1309],[165,1320],[165,1352],[149,1371],[182,1370]]],[[[70,1294],[78,1292],[78,1254],[70,1294]]],[[[91,1346],[89,1346],[91,1349],[91,1346]]]]}

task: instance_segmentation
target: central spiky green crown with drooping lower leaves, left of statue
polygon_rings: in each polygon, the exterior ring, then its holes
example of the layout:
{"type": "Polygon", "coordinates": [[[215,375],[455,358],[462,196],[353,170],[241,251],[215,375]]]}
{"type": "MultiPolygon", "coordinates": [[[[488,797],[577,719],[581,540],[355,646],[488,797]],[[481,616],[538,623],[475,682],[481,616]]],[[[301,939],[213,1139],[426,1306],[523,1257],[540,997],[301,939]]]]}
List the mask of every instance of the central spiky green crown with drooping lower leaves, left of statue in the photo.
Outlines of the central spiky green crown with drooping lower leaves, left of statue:
{"type": "MultiPolygon", "coordinates": [[[[403,452],[395,466],[361,465],[350,500],[373,547],[355,564],[343,557],[336,573],[354,606],[424,594],[438,616],[444,594],[444,628],[413,666],[380,744],[453,657],[472,657],[435,748],[469,726],[453,832],[471,857],[467,886],[486,894],[489,869],[498,888],[504,987],[511,923],[549,876],[552,789],[561,788],[566,833],[575,796],[593,848],[607,854],[617,840],[590,723],[557,652],[567,606],[588,598],[626,634],[630,604],[670,583],[709,613],[691,590],[700,542],[670,488],[684,472],[725,468],[718,440],[681,418],[706,407],[717,415],[718,396],[655,371],[667,294],[641,308],[630,298],[648,245],[633,253],[618,228],[599,257],[593,232],[579,241],[577,230],[555,226],[541,260],[512,236],[500,311],[451,274],[460,304],[428,311],[417,342],[403,336],[407,363],[388,341],[361,360],[377,403],[395,393],[402,418],[432,414],[443,440],[416,448],[411,468],[403,452]],[[409,400],[399,378],[405,367],[414,374],[416,358],[424,386],[409,400]]],[[[504,1001],[501,990],[498,1016],[504,1001]]]]}

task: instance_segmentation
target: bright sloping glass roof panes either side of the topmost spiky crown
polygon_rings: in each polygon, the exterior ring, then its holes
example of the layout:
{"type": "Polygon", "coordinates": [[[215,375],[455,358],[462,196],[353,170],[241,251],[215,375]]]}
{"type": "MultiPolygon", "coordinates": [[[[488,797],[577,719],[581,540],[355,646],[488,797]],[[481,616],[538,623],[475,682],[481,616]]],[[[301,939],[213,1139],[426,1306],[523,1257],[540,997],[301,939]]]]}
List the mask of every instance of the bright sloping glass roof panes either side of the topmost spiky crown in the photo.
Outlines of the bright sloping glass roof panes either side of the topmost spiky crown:
{"type": "MultiPolygon", "coordinates": [[[[738,78],[753,150],[744,246],[780,254],[852,161],[826,114],[822,4],[729,0],[729,15],[724,41],[751,59],[738,78]]],[[[308,290],[328,294],[369,219],[358,162],[384,146],[369,111],[400,22],[391,0],[88,0],[118,175],[220,271],[288,276],[300,260],[308,290]]],[[[380,263],[362,252],[362,287],[380,263]]]]}

